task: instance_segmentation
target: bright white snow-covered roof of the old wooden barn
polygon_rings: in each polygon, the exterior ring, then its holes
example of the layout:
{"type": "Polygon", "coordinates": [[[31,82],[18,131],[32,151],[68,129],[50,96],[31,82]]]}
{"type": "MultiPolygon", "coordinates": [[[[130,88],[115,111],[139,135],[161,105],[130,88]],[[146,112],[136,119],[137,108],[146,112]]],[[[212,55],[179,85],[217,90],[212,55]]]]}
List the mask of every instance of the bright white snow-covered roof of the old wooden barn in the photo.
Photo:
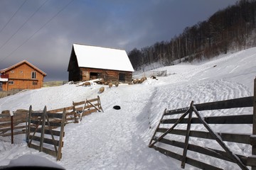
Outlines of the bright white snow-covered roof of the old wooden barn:
{"type": "Polygon", "coordinates": [[[125,50],[73,44],[78,67],[134,72],[125,50]]]}

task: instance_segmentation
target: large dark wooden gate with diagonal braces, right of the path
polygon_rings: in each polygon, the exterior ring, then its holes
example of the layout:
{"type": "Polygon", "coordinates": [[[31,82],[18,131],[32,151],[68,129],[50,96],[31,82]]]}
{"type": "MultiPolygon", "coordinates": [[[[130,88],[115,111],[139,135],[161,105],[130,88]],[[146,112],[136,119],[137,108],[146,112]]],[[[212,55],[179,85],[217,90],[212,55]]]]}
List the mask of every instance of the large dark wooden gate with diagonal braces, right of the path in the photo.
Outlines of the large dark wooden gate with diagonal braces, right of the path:
{"type": "MultiPolygon", "coordinates": [[[[196,140],[197,141],[197,140],[196,140]]],[[[196,166],[199,169],[221,169],[218,165],[207,164],[205,160],[196,160],[196,157],[188,157],[187,154],[190,152],[197,152],[201,154],[202,157],[206,155],[210,157],[215,157],[217,159],[222,159],[227,162],[233,162],[238,164],[240,169],[247,169],[247,166],[252,166],[252,170],[256,169],[256,79],[255,79],[255,89],[254,96],[245,97],[245,98],[235,98],[227,101],[215,101],[210,103],[201,103],[193,104],[188,108],[179,108],[172,111],[164,111],[164,114],[161,117],[159,125],[154,132],[151,141],[149,142],[149,147],[152,147],[162,154],[166,154],[168,157],[178,159],[181,161],[181,168],[185,167],[185,164],[191,164],[196,166]],[[199,111],[213,111],[219,109],[229,109],[229,108],[247,108],[253,107],[253,113],[249,115],[224,115],[224,116],[215,116],[215,117],[203,117],[199,111]],[[196,115],[192,117],[192,115],[196,115]],[[177,115],[181,115],[178,116],[177,115]],[[188,118],[186,116],[188,115],[188,118]],[[171,118],[172,117],[172,118],[171,118]],[[176,117],[176,118],[174,118],[176,117]],[[186,128],[180,129],[184,125],[186,128]],[[191,130],[191,124],[201,124],[202,130],[198,131],[191,130]],[[252,125],[252,133],[224,133],[224,132],[214,132],[210,125],[252,125]],[[168,127],[168,128],[166,128],[168,127]],[[174,129],[178,127],[178,129],[174,129]],[[204,127],[204,128],[203,128],[204,127]],[[182,135],[185,140],[184,142],[176,140],[175,135],[182,135]],[[224,150],[219,150],[215,148],[203,147],[200,145],[200,142],[194,142],[189,144],[188,141],[190,137],[196,137],[197,139],[208,139],[215,140],[218,142],[218,145],[224,150]],[[225,142],[224,142],[225,141],[225,142]],[[233,153],[226,142],[236,142],[245,145],[252,146],[252,155],[247,157],[245,155],[233,153]],[[163,145],[164,144],[164,145],[163,145]],[[165,147],[168,145],[169,147],[165,147]],[[178,150],[181,148],[183,154],[178,154],[173,152],[171,147],[178,150]],[[204,155],[202,155],[204,154],[204,155]]]]}

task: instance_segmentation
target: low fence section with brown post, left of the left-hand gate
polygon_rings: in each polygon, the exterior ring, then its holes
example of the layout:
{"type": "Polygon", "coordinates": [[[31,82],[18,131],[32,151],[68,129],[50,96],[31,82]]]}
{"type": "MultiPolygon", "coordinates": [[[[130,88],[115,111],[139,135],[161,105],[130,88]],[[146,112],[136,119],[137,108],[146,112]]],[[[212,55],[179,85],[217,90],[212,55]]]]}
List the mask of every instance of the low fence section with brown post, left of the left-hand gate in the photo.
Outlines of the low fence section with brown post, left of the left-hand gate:
{"type": "Polygon", "coordinates": [[[14,143],[14,135],[26,134],[28,111],[17,110],[2,111],[0,114],[0,136],[11,136],[11,144],[14,143]]]}

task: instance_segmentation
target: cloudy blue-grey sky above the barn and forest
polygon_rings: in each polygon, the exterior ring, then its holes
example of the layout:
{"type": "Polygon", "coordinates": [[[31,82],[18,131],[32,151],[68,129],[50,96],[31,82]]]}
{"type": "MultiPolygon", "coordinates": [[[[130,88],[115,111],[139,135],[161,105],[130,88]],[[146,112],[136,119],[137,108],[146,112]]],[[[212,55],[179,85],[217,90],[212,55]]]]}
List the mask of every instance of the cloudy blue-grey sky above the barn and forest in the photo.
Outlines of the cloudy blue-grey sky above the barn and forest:
{"type": "Polygon", "coordinates": [[[68,80],[73,43],[141,49],[237,0],[0,0],[0,69],[28,60],[68,80]]]}

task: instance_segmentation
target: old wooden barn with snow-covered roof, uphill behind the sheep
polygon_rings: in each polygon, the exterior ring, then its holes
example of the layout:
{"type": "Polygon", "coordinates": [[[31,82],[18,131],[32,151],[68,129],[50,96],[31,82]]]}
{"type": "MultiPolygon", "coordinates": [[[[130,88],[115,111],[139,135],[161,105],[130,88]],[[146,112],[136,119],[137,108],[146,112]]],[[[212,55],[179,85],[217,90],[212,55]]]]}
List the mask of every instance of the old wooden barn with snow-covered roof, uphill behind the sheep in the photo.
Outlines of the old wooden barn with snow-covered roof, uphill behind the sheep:
{"type": "Polygon", "coordinates": [[[132,81],[134,69],[125,50],[73,44],[68,64],[69,81],[132,81]]]}

